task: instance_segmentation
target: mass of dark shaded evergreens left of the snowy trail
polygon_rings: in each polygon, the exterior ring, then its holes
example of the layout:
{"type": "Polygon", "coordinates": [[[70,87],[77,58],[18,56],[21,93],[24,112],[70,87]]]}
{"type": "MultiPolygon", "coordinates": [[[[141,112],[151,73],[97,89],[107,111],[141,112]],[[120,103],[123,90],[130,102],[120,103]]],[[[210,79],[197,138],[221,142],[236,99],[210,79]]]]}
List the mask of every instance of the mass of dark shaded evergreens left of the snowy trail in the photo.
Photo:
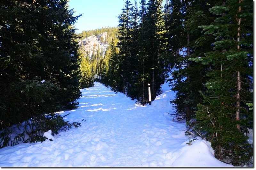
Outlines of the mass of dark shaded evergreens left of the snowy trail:
{"type": "Polygon", "coordinates": [[[13,126],[25,128],[20,142],[72,126],[53,113],[77,107],[81,96],[73,13],[66,0],[0,1],[1,147],[13,126]]]}

